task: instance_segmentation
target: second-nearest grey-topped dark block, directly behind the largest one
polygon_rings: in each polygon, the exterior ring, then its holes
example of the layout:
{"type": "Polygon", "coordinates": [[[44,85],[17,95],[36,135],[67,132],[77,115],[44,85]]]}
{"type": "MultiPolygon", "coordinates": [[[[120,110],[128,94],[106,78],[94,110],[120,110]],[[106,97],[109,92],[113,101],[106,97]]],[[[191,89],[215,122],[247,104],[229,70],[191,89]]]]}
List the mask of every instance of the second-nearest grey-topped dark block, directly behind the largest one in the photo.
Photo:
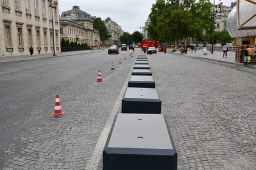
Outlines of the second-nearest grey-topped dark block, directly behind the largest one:
{"type": "Polygon", "coordinates": [[[127,87],[122,113],[161,114],[161,104],[156,89],[127,87]]]}

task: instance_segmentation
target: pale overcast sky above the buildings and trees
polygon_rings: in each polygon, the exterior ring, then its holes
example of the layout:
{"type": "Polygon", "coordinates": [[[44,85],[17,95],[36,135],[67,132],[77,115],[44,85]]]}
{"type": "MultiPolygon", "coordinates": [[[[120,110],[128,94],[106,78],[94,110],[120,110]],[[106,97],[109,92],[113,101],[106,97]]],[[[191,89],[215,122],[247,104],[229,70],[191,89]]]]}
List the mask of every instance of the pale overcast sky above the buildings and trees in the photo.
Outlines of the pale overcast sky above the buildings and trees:
{"type": "MultiPolygon", "coordinates": [[[[213,3],[213,0],[210,0],[213,3]]],[[[222,0],[223,4],[230,6],[235,0],[222,0]]],[[[219,0],[215,0],[218,4],[219,0]]],[[[155,0],[59,0],[59,14],[71,10],[74,5],[80,7],[80,10],[89,13],[91,16],[101,17],[105,20],[108,16],[112,21],[121,26],[124,32],[141,32],[140,27],[148,19],[151,13],[152,4],[155,0]]]]}

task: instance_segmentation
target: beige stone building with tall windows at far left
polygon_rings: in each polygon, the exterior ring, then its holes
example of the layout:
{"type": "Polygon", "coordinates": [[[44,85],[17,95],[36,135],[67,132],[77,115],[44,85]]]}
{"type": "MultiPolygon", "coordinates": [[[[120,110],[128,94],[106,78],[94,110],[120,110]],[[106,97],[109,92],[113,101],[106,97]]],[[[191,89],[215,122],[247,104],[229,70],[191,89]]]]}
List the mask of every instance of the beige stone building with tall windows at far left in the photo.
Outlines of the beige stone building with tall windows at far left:
{"type": "Polygon", "coordinates": [[[0,4],[0,56],[29,55],[30,46],[34,54],[60,52],[58,0],[1,0],[0,4]]]}

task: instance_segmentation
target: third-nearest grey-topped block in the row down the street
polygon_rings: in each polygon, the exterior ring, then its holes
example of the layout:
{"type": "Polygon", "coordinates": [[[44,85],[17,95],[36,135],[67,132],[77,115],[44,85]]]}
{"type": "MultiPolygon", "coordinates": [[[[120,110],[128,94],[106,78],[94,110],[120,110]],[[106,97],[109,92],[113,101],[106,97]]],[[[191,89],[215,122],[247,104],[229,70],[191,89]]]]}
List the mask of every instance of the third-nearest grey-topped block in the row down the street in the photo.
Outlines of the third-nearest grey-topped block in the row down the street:
{"type": "Polygon", "coordinates": [[[128,87],[155,88],[155,82],[152,76],[132,75],[128,87]]]}

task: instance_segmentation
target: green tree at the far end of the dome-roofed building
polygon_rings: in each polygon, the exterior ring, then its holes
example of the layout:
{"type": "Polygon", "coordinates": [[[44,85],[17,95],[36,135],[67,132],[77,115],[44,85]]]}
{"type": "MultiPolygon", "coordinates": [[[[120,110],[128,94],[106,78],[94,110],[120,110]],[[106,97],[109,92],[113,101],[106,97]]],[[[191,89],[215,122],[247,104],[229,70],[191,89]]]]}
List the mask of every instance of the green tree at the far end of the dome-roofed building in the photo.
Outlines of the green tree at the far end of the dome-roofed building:
{"type": "Polygon", "coordinates": [[[99,31],[99,37],[102,42],[111,38],[111,35],[108,33],[107,27],[104,21],[101,20],[101,17],[93,19],[93,28],[99,31]]]}

